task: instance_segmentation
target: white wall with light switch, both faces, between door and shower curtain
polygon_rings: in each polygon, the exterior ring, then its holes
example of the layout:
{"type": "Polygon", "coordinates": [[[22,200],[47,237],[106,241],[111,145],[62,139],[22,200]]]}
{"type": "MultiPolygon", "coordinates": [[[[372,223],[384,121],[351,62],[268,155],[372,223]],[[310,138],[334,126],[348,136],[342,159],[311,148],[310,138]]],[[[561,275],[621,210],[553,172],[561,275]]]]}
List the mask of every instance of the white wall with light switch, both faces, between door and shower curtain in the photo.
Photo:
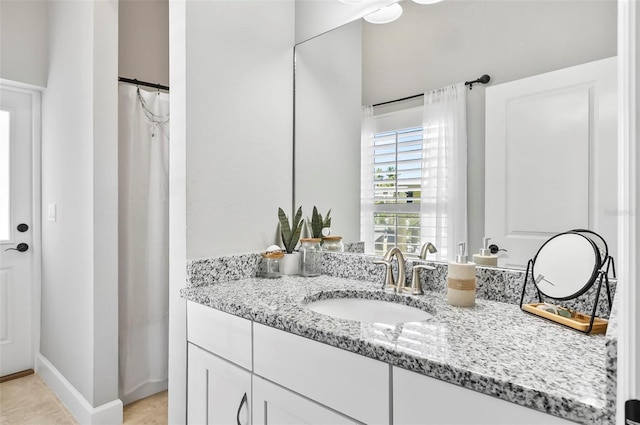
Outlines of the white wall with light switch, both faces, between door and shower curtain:
{"type": "Polygon", "coordinates": [[[114,401],[117,418],[118,3],[50,2],[49,18],[41,355],[88,403],[73,411],[78,419],[114,401]],[[53,203],[55,222],[47,221],[53,203]]]}

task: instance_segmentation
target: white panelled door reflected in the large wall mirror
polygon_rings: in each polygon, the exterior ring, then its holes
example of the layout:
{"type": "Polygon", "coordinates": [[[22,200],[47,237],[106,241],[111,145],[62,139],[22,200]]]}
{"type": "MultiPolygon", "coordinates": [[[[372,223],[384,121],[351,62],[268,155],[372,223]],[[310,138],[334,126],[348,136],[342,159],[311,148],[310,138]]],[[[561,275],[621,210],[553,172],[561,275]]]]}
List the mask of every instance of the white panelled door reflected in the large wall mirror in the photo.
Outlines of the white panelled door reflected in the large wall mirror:
{"type": "Polygon", "coordinates": [[[485,234],[526,267],[551,236],[617,246],[617,78],[608,58],[486,90],[485,234]]]}

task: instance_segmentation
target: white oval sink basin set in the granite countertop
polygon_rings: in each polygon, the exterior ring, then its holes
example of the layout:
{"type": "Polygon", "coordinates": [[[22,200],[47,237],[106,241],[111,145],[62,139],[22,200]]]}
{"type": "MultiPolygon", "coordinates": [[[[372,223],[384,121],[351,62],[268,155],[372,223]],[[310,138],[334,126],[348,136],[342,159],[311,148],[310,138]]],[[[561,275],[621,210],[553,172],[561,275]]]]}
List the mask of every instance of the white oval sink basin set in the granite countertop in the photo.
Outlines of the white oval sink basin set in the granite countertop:
{"type": "Polygon", "coordinates": [[[318,300],[307,304],[307,308],[327,316],[366,323],[420,322],[433,317],[426,311],[408,305],[362,298],[318,300]]]}

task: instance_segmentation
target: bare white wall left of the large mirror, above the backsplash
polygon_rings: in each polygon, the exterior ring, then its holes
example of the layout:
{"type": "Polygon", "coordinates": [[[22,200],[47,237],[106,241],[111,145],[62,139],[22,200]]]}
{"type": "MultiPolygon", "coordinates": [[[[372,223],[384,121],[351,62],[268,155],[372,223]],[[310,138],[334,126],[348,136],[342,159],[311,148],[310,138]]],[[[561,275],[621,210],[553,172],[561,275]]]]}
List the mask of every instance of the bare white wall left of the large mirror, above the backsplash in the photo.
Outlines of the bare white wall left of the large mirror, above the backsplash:
{"type": "Polygon", "coordinates": [[[259,251],[291,209],[294,4],[187,2],[187,258],[259,251]]]}

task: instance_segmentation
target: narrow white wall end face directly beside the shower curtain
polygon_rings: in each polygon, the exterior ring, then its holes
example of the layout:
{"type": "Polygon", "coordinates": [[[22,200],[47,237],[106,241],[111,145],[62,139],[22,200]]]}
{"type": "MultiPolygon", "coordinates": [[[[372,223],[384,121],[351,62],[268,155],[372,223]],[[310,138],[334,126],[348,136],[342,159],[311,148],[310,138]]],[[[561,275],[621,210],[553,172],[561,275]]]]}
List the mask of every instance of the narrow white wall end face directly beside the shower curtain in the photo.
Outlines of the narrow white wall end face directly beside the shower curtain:
{"type": "Polygon", "coordinates": [[[95,2],[93,18],[93,405],[100,406],[118,400],[118,1],[95,2]]]}

